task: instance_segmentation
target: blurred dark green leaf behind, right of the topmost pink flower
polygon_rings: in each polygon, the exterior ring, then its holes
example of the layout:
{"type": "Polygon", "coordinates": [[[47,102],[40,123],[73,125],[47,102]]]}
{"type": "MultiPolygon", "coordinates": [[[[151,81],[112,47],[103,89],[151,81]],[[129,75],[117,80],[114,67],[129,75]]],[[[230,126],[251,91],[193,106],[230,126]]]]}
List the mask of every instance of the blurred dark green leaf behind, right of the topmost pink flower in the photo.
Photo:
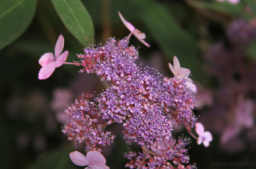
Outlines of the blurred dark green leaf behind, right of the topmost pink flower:
{"type": "Polygon", "coordinates": [[[131,2],[137,7],[136,11],[139,11],[137,16],[145,23],[156,44],[169,60],[177,56],[179,60],[186,61],[182,62],[182,67],[195,68],[196,42],[191,34],[180,27],[170,12],[155,1],[131,0],[131,2]]]}

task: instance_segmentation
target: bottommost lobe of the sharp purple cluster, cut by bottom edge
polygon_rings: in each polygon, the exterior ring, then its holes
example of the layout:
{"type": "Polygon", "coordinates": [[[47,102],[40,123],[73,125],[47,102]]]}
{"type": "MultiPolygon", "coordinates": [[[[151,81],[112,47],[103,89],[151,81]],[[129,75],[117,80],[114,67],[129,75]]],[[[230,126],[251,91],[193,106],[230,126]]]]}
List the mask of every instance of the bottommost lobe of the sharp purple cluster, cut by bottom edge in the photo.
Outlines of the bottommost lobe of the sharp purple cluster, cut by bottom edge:
{"type": "Polygon", "coordinates": [[[126,164],[126,167],[129,168],[187,168],[195,169],[195,164],[189,163],[189,155],[187,154],[188,149],[185,146],[190,144],[190,139],[180,136],[176,142],[173,138],[169,140],[163,140],[160,145],[157,145],[152,152],[144,151],[143,153],[139,152],[139,155],[136,157],[136,152],[129,152],[124,154],[124,157],[130,160],[126,164]],[[151,156],[151,155],[153,156],[151,156]],[[145,159],[148,159],[145,161],[145,159]],[[172,165],[167,160],[172,160],[172,165]],[[187,165],[188,164],[188,165],[187,165]],[[148,167],[145,167],[148,165],[148,167]],[[157,166],[157,167],[156,167],[157,166]]]}

